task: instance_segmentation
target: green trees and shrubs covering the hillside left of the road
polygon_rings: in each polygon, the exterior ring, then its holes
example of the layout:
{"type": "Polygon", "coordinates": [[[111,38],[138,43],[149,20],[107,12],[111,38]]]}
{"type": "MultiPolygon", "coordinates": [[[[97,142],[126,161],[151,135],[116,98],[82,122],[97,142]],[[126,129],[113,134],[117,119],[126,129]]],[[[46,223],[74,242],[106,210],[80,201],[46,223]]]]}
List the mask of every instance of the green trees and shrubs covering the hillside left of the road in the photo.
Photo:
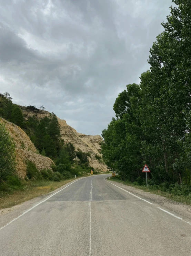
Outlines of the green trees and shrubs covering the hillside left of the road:
{"type": "MultiPolygon", "coordinates": [[[[3,124],[0,123],[0,196],[11,195],[14,191],[25,190],[26,184],[41,184],[43,182],[61,182],[62,180],[84,176],[93,169],[89,166],[87,154],[75,151],[72,143],[64,143],[61,139],[60,125],[57,116],[50,113],[49,116],[38,119],[35,112],[39,111],[35,106],[28,106],[34,112],[28,120],[25,120],[21,109],[12,103],[8,92],[0,95],[0,116],[7,121],[20,126],[34,143],[42,156],[51,158],[55,165],[52,170],[39,171],[31,161],[26,161],[27,173],[25,180],[20,180],[16,175],[16,162],[14,143],[10,139],[3,124]],[[79,161],[75,158],[78,157],[79,161]]],[[[42,108],[42,107],[41,107],[42,108]]],[[[23,147],[24,149],[24,147],[23,147]]]]}

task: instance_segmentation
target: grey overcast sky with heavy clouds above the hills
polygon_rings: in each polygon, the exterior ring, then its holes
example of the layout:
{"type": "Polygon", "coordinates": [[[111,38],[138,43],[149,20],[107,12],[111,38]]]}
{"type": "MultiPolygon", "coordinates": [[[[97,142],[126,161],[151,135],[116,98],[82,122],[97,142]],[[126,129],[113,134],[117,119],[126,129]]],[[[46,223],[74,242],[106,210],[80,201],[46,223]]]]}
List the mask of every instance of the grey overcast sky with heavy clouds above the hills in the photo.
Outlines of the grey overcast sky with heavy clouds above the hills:
{"type": "Polygon", "coordinates": [[[139,83],[171,0],[0,0],[0,92],[101,134],[139,83]]]}

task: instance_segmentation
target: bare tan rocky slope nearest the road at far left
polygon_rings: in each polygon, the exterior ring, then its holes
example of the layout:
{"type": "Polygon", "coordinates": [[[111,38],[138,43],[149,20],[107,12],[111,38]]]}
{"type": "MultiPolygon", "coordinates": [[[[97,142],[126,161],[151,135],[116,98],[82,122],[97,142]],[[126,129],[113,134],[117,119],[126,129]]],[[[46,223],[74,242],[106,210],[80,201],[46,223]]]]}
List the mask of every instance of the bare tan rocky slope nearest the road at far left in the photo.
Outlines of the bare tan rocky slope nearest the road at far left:
{"type": "Polygon", "coordinates": [[[5,124],[7,131],[15,143],[17,162],[16,170],[20,178],[24,178],[26,176],[27,166],[25,160],[32,161],[38,170],[44,168],[51,169],[54,162],[50,158],[41,156],[37,153],[37,149],[34,147],[34,144],[19,126],[8,122],[1,117],[0,122],[5,124]]]}

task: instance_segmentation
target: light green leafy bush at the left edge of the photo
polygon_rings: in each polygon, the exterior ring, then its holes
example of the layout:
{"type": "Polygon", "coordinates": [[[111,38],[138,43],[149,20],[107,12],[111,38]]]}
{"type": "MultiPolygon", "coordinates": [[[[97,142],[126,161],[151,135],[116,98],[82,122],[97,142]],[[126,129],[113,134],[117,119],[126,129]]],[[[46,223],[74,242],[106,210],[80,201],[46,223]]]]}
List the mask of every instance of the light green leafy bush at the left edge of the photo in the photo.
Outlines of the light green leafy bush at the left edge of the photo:
{"type": "Polygon", "coordinates": [[[0,183],[12,175],[16,168],[15,149],[5,125],[0,123],[0,183]]]}

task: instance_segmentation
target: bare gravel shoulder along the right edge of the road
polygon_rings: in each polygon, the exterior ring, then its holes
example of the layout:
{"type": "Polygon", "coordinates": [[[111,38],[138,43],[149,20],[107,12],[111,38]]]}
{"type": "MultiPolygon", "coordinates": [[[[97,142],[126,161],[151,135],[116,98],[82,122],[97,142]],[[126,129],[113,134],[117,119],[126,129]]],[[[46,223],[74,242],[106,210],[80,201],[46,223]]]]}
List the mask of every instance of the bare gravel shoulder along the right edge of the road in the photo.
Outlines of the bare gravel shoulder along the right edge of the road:
{"type": "Polygon", "coordinates": [[[150,201],[153,204],[158,204],[160,206],[163,206],[164,208],[169,209],[170,211],[179,213],[179,214],[191,219],[191,206],[190,205],[170,200],[164,196],[152,194],[150,192],[145,192],[142,189],[124,185],[124,184],[116,182],[116,181],[111,181],[111,180],[108,180],[108,181],[137,195],[137,196],[140,196],[143,199],[150,201]]]}

